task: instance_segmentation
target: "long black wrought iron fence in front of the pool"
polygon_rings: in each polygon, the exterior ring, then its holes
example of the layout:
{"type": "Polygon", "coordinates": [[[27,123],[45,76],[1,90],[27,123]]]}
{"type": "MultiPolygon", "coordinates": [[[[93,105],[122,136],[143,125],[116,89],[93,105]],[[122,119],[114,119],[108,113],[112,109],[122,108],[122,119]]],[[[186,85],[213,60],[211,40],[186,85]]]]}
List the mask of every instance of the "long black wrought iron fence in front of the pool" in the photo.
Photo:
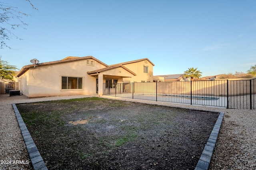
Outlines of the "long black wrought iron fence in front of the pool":
{"type": "Polygon", "coordinates": [[[254,109],[256,79],[104,83],[103,95],[184,104],[254,109]]]}

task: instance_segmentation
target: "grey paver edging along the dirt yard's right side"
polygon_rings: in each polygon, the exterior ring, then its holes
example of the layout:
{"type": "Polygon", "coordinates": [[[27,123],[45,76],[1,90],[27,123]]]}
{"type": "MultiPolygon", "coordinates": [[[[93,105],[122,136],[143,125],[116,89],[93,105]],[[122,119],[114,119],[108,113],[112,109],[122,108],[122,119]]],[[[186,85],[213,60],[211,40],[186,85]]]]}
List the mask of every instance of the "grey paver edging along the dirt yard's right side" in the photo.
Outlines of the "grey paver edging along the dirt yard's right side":
{"type": "Polygon", "coordinates": [[[206,146],[204,147],[202,155],[198,160],[195,170],[208,170],[211,159],[212,159],[213,150],[214,150],[214,147],[218,138],[218,134],[220,131],[220,126],[222,123],[223,116],[224,116],[224,112],[220,112],[220,115],[212,129],[212,133],[206,143],[206,146]]]}

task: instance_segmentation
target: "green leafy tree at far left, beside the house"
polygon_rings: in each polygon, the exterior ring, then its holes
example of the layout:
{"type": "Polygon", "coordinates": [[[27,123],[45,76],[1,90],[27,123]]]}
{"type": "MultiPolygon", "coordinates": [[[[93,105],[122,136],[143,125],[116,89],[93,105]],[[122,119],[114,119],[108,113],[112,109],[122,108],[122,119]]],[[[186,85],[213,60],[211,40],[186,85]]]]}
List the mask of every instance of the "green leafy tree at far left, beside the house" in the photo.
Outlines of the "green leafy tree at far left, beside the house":
{"type": "Polygon", "coordinates": [[[18,70],[17,66],[10,65],[7,61],[2,61],[0,56],[0,80],[13,80],[15,70],[18,70]]]}

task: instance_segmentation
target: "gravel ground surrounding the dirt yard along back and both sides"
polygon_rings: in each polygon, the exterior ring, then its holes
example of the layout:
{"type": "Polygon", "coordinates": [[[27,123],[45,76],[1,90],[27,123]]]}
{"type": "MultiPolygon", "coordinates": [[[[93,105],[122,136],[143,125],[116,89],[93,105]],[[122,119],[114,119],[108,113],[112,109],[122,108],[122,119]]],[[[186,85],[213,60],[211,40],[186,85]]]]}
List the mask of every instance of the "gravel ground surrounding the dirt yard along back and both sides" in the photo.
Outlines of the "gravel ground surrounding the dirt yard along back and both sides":
{"type": "MultiPolygon", "coordinates": [[[[32,165],[26,150],[12,103],[40,102],[96,95],[62,96],[28,99],[26,96],[0,95],[0,170],[30,170],[32,165]],[[16,162],[18,160],[18,162],[16,162]],[[6,162],[8,161],[8,162],[6,162]],[[10,161],[10,162],[9,162],[10,161]],[[29,163],[28,163],[29,161],[29,163]],[[7,164],[10,163],[10,164],[7,164]],[[28,164],[27,164],[28,163],[28,164]]],[[[256,169],[256,111],[249,109],[225,109],[169,102],[132,100],[126,98],[104,98],[135,101],[164,106],[183,107],[208,111],[224,111],[224,119],[212,156],[210,170],[255,170],[256,169]]],[[[256,105],[256,104],[255,104],[256,105]]]]}

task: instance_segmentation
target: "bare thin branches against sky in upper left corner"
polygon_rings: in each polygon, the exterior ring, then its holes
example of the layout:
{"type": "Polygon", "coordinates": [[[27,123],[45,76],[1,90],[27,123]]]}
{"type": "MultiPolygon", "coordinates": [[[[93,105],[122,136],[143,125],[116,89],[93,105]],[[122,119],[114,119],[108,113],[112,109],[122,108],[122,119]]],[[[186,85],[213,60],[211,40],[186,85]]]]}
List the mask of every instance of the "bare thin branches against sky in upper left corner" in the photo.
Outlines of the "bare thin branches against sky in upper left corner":
{"type": "MultiPolygon", "coordinates": [[[[30,0],[26,0],[30,6],[32,6],[33,9],[37,10],[34,8],[33,4],[30,2],[30,0]]],[[[14,29],[18,28],[24,28],[26,29],[26,26],[28,23],[25,23],[22,21],[22,17],[24,16],[29,16],[26,13],[20,12],[18,10],[18,7],[10,6],[4,2],[0,2],[0,48],[3,49],[4,47],[7,47],[11,49],[6,44],[6,41],[9,41],[12,38],[17,38],[20,39],[18,36],[16,36],[13,33],[14,29]]],[[[21,40],[21,39],[20,39],[21,40]]]]}

